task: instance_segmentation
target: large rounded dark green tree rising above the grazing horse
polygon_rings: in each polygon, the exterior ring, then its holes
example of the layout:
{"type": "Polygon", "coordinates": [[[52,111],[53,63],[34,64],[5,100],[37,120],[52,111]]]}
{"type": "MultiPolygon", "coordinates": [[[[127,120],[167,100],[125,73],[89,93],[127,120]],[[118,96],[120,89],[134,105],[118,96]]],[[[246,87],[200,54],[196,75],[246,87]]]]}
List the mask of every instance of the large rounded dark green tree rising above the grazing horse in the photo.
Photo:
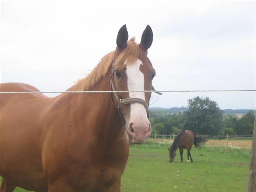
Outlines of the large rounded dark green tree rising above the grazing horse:
{"type": "Polygon", "coordinates": [[[198,134],[215,135],[222,128],[223,111],[209,97],[195,97],[188,100],[185,112],[185,129],[198,134]]]}

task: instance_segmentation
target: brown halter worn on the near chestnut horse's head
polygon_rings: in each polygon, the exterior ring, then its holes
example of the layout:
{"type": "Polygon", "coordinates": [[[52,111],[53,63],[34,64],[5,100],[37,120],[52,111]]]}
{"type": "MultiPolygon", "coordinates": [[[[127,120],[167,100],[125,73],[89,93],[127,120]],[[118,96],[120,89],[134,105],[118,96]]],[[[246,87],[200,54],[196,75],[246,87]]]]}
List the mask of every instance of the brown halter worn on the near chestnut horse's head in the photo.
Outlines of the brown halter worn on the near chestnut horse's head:
{"type": "MultiPolygon", "coordinates": [[[[116,87],[115,87],[115,84],[114,84],[114,81],[113,81],[113,77],[114,77],[114,63],[115,63],[115,59],[116,59],[116,53],[115,53],[115,56],[114,56],[114,59],[113,59],[113,62],[112,62],[112,66],[111,66],[111,73],[110,73],[110,91],[113,90],[113,91],[116,91],[116,87]]],[[[152,90],[155,91],[154,87],[152,86],[152,90]]],[[[124,124],[126,124],[126,121],[124,119],[124,116],[123,116],[123,112],[122,112],[122,108],[121,106],[122,105],[126,105],[126,104],[132,104],[132,103],[139,103],[139,104],[142,104],[145,108],[146,108],[146,111],[147,111],[147,117],[149,119],[149,109],[148,109],[148,104],[146,103],[146,101],[140,99],[140,98],[127,98],[127,99],[121,99],[119,97],[119,95],[117,94],[117,92],[113,92],[114,95],[115,95],[115,98],[116,98],[116,101],[117,101],[117,110],[119,112],[119,115],[123,121],[124,124]]],[[[156,92],[157,94],[159,95],[162,95],[162,93],[160,92],[156,92]]],[[[114,103],[114,98],[113,98],[113,94],[110,93],[110,97],[111,97],[111,100],[112,102],[114,103]]]]}

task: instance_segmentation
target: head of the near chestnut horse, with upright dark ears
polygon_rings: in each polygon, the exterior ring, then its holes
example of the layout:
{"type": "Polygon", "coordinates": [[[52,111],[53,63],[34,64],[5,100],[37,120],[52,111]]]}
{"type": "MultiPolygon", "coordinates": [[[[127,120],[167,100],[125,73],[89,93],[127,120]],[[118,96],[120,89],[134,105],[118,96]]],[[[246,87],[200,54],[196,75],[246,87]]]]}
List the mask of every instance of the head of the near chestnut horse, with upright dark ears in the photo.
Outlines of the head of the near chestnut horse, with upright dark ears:
{"type": "MultiPolygon", "coordinates": [[[[148,25],[142,34],[140,44],[134,38],[128,40],[126,25],[118,32],[115,57],[112,66],[113,90],[143,91],[152,90],[155,70],[147,57],[147,50],[152,44],[153,33],[148,25]]],[[[148,104],[151,92],[118,92],[113,94],[116,106],[119,106],[125,123],[129,141],[144,143],[151,134],[148,120],[148,104]],[[116,99],[115,99],[116,98],[116,99]],[[121,104],[118,100],[124,102],[121,104]],[[136,98],[136,99],[135,99],[136,98]],[[128,100],[126,100],[128,99],[128,100]],[[127,101],[127,103],[126,103],[127,101]]]]}

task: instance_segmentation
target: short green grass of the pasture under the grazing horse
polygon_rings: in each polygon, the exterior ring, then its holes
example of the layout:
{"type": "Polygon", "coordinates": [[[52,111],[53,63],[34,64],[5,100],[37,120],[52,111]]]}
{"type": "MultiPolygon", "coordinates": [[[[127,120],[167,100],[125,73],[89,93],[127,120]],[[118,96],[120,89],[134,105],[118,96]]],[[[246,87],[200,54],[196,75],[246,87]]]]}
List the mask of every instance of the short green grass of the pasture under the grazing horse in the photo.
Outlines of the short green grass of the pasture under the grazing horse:
{"type": "MultiPolygon", "coordinates": [[[[249,149],[225,147],[192,148],[193,163],[168,161],[169,145],[148,141],[131,145],[122,192],[244,192],[250,163],[249,149]]],[[[17,188],[15,192],[25,192],[17,188]]]]}

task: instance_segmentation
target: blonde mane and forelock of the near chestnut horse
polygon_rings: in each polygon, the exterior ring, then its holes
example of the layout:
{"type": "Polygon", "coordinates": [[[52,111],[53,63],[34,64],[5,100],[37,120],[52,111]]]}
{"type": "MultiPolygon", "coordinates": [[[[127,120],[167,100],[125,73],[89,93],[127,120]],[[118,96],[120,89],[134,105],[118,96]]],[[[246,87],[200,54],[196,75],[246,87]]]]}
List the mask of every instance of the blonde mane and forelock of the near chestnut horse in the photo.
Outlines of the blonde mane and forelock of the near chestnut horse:
{"type": "Polygon", "coordinates": [[[107,74],[112,65],[115,54],[117,55],[114,63],[115,66],[124,64],[124,61],[126,65],[129,65],[139,58],[140,48],[133,37],[127,41],[127,46],[122,50],[122,52],[115,50],[105,55],[91,73],[87,77],[79,79],[77,83],[69,89],[69,91],[85,91],[93,87],[107,74]]]}

